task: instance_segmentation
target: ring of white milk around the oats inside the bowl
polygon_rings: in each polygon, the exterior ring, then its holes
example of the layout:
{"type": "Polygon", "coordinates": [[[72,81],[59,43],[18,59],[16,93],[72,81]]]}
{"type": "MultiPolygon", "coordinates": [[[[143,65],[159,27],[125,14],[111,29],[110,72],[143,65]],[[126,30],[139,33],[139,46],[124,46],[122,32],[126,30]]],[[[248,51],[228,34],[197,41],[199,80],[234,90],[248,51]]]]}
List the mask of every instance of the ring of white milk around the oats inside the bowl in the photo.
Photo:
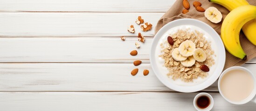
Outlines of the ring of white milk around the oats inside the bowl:
{"type": "MultiPolygon", "coordinates": [[[[194,82],[184,82],[180,79],[177,79],[177,80],[173,80],[172,77],[168,77],[166,74],[169,72],[168,69],[163,66],[165,64],[165,60],[162,59],[161,57],[159,57],[159,55],[161,55],[161,47],[160,47],[160,44],[161,43],[164,43],[166,40],[167,40],[167,37],[169,35],[172,35],[173,33],[177,32],[179,29],[181,30],[186,30],[186,29],[190,29],[188,31],[192,32],[192,31],[199,31],[200,33],[203,33],[204,34],[204,37],[206,38],[206,40],[211,41],[211,47],[212,49],[217,49],[217,46],[216,46],[216,43],[214,43],[213,41],[213,38],[207,33],[207,31],[204,31],[202,30],[201,28],[199,27],[196,27],[196,26],[193,26],[193,25],[180,25],[180,26],[177,26],[177,27],[173,27],[171,28],[170,30],[168,30],[159,40],[158,42],[158,45],[156,47],[156,52],[155,52],[155,59],[158,61],[157,62],[157,67],[159,68],[160,70],[160,73],[163,74],[164,76],[166,76],[166,78],[168,78],[168,80],[176,85],[179,85],[179,86],[195,86],[195,85],[198,85],[198,84],[201,84],[202,82],[204,82],[205,80],[207,80],[211,74],[213,74],[214,70],[216,69],[216,61],[218,61],[218,56],[213,56],[214,58],[214,62],[215,64],[210,67],[210,71],[208,72],[208,76],[206,78],[201,78],[199,77],[198,79],[194,79],[194,82]]],[[[218,55],[218,50],[214,50],[214,55],[218,55]]]]}

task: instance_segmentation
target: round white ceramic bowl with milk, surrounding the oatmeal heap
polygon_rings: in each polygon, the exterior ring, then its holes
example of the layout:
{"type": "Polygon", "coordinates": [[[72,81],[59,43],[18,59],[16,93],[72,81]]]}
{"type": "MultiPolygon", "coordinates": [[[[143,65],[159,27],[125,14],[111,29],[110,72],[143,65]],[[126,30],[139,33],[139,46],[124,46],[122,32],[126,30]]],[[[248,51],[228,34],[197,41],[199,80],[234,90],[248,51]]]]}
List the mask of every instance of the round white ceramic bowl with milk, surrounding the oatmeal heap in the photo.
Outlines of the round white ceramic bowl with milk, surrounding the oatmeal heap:
{"type": "MultiPolygon", "coordinates": [[[[207,88],[208,86],[212,85],[220,76],[224,64],[225,64],[225,48],[224,45],[221,41],[221,37],[218,35],[218,33],[209,25],[207,25],[204,22],[201,22],[196,19],[178,19],[174,20],[165,26],[163,26],[158,33],[155,35],[151,47],[151,52],[150,52],[150,63],[152,66],[152,69],[154,73],[156,74],[157,78],[167,87],[178,91],[178,92],[184,92],[184,93],[191,93],[191,92],[197,92],[200,90],[203,90],[207,88]],[[179,27],[179,26],[193,26],[197,27],[196,30],[201,30],[204,32],[207,32],[208,35],[211,37],[210,39],[212,40],[211,42],[214,43],[214,51],[216,54],[217,59],[215,59],[215,68],[211,70],[208,75],[207,80],[204,80],[203,82],[196,84],[196,85],[179,85],[179,84],[174,84],[173,82],[170,81],[170,79],[166,76],[166,74],[163,73],[162,69],[167,70],[167,68],[163,68],[164,64],[159,64],[159,55],[158,53],[160,52],[159,48],[159,41],[161,37],[163,37],[167,31],[169,31],[172,28],[179,27]]],[[[189,83],[188,83],[189,84],[189,83]]]]}

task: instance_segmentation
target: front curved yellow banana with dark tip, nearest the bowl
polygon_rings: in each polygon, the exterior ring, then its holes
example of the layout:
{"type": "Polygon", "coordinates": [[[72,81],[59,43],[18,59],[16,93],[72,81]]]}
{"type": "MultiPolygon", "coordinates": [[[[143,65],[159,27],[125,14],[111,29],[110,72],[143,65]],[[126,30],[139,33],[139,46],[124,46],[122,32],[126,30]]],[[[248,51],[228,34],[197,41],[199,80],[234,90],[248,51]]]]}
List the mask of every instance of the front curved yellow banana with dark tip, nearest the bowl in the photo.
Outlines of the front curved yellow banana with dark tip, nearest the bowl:
{"type": "Polygon", "coordinates": [[[221,25],[221,39],[228,52],[242,60],[246,60],[239,34],[242,26],[249,20],[256,19],[256,6],[239,6],[228,13],[221,25]]]}

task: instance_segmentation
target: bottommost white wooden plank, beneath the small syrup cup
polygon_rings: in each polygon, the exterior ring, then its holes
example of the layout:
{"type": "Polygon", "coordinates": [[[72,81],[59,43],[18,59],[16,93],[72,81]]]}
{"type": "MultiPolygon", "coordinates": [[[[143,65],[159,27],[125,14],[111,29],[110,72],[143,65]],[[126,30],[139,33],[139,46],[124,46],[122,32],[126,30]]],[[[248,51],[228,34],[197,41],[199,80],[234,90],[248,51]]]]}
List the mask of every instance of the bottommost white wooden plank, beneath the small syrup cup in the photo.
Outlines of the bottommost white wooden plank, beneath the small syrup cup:
{"type": "MultiPolygon", "coordinates": [[[[4,111],[192,111],[197,93],[0,93],[4,111]]],[[[233,105],[219,93],[213,111],[255,111],[254,103],[233,105]]]]}

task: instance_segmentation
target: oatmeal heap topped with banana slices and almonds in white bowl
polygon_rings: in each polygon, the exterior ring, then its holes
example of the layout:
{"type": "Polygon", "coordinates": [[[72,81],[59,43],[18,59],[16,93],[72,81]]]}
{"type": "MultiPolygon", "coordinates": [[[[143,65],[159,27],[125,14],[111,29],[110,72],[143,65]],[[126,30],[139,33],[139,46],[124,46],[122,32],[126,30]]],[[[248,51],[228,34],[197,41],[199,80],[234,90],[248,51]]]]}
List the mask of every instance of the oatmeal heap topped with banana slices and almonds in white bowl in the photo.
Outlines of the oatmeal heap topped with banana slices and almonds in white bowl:
{"type": "Polygon", "coordinates": [[[204,37],[204,33],[189,30],[179,29],[160,43],[159,57],[165,61],[166,75],[173,80],[193,82],[199,77],[206,78],[215,64],[211,42],[204,37]]]}

